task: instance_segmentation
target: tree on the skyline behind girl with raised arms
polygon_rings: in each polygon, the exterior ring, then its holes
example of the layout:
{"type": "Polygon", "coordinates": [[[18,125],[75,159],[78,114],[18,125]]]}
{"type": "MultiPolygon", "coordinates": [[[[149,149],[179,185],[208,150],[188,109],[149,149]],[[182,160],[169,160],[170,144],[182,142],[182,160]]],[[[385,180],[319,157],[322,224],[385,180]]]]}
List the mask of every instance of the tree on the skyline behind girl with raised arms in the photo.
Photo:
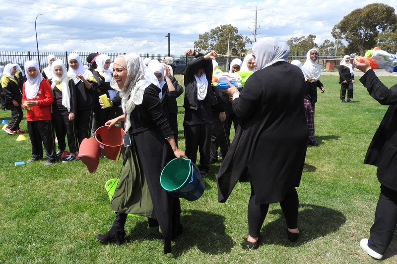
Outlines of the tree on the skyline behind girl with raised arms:
{"type": "Polygon", "coordinates": [[[229,44],[229,55],[245,56],[247,51],[246,44],[252,44],[248,37],[238,34],[238,29],[229,25],[220,25],[199,35],[199,40],[194,42],[195,49],[201,53],[216,51],[219,54],[226,55],[229,44]],[[229,41],[230,37],[230,41],[229,41]]]}

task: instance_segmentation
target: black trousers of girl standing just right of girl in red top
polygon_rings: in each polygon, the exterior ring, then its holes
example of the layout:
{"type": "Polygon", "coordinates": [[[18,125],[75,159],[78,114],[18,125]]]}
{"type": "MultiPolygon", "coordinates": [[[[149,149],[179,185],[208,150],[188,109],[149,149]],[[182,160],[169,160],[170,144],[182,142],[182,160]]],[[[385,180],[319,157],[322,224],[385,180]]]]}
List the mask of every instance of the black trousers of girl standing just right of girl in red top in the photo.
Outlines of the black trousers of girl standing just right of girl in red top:
{"type": "Polygon", "coordinates": [[[58,149],[60,151],[66,150],[66,140],[69,147],[70,153],[76,153],[77,151],[77,129],[75,127],[74,120],[69,121],[67,115],[61,115],[53,113],[53,120],[55,125],[55,134],[58,140],[58,149]]]}

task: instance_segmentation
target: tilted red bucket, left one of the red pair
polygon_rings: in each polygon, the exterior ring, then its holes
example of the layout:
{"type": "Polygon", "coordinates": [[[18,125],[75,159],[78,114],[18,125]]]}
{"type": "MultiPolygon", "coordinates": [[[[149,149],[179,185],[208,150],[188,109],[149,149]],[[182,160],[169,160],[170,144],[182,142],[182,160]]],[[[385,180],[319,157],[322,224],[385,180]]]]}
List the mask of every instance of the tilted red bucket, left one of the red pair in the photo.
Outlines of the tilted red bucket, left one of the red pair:
{"type": "Polygon", "coordinates": [[[83,139],[78,151],[78,158],[87,166],[90,173],[93,173],[98,168],[101,150],[99,149],[99,144],[96,139],[83,139]]]}

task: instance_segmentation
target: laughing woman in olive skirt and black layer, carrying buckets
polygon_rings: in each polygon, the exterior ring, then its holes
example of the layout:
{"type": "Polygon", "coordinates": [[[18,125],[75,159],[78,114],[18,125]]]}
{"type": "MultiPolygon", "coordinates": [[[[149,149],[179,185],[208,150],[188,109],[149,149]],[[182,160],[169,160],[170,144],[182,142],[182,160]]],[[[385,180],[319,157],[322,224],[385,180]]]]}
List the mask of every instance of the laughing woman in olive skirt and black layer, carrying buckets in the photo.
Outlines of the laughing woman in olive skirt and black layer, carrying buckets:
{"type": "Polygon", "coordinates": [[[149,218],[149,226],[160,226],[167,254],[171,252],[171,240],[183,232],[181,204],[179,198],[161,187],[160,174],[171,159],[186,156],[175,143],[158,87],[149,81],[142,59],[135,53],[122,55],[115,59],[113,68],[111,85],[120,91],[125,115],[106,125],[111,127],[124,120],[128,135],[124,141],[132,144],[126,145],[125,165],[110,205],[117,212],[116,219],[112,228],[97,235],[97,239],[106,244],[123,244],[127,215],[141,215],[149,218]]]}

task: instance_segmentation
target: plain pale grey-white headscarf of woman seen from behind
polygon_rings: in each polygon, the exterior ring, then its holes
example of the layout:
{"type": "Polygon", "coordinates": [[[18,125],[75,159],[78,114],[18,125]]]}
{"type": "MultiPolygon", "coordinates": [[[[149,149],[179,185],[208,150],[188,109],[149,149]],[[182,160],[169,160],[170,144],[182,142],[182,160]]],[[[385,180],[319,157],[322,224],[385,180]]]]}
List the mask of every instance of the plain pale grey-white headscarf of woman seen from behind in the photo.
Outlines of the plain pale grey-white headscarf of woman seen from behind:
{"type": "Polygon", "coordinates": [[[278,61],[286,62],[289,55],[289,47],[274,38],[265,37],[252,46],[252,53],[255,54],[258,69],[264,69],[278,61]]]}

